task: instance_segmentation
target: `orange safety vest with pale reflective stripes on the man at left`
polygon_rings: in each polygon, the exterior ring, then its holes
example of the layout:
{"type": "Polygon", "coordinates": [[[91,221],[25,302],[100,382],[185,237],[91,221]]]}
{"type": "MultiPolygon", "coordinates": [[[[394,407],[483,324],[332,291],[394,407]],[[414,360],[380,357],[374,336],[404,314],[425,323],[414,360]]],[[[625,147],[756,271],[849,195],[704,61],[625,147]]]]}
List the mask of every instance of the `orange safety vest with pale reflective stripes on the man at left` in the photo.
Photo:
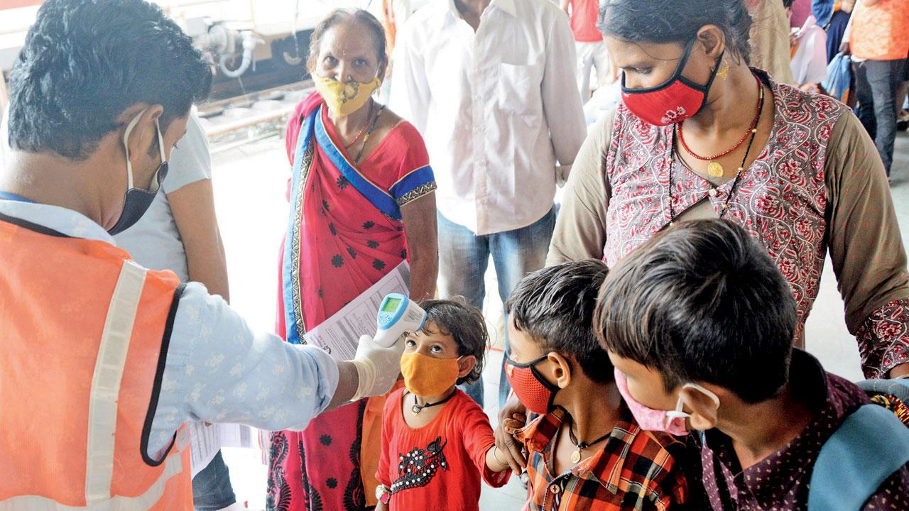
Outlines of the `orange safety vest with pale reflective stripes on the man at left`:
{"type": "Polygon", "coordinates": [[[0,511],[193,508],[184,431],[146,455],[181,289],[0,215],[0,511]]]}

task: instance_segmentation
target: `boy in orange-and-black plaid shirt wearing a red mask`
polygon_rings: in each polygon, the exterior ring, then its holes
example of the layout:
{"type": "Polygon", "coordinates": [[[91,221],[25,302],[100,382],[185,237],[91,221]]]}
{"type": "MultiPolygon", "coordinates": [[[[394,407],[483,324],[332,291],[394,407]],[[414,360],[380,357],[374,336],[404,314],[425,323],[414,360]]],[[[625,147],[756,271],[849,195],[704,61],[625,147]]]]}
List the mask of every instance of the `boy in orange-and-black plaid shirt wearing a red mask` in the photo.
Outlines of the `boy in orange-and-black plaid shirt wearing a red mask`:
{"type": "MultiPolygon", "coordinates": [[[[664,510],[687,500],[684,445],[635,423],[596,342],[592,318],[606,271],[593,259],[544,268],[505,304],[505,375],[541,415],[515,435],[527,453],[528,511],[664,510]]],[[[522,424],[504,423],[507,432],[522,424]]],[[[514,446],[506,451],[509,461],[520,456],[514,446]]]]}

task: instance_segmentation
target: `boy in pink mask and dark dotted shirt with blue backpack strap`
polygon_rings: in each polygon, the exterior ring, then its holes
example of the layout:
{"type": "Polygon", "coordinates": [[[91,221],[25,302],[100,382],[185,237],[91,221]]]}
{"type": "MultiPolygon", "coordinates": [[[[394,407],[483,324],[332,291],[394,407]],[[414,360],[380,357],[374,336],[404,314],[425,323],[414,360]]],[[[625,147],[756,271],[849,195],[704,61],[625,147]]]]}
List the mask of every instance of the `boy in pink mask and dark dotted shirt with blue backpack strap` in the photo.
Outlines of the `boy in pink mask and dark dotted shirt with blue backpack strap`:
{"type": "Polygon", "coordinates": [[[724,220],[679,223],[626,256],[606,277],[594,316],[638,424],[703,431],[691,439],[714,510],[909,509],[905,427],[794,349],[796,324],[773,260],[724,220]],[[850,416],[874,409],[883,412],[861,415],[871,432],[841,444],[850,416]],[[832,463],[822,461],[822,449],[833,452],[828,442],[846,447],[832,463]],[[893,452],[850,471],[855,451],[888,443],[893,452]],[[814,479],[831,466],[834,477],[814,479]],[[827,506],[809,505],[823,499],[827,506]]]}

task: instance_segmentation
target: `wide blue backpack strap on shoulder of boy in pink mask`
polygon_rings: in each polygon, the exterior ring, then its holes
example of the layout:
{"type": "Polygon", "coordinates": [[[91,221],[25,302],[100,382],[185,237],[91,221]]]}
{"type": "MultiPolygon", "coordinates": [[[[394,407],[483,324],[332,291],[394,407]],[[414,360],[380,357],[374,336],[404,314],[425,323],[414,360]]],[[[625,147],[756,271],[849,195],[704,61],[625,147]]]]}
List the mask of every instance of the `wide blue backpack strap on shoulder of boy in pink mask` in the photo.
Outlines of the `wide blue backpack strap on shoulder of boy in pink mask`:
{"type": "Polygon", "coordinates": [[[821,447],[811,475],[808,511],[859,511],[907,462],[909,428],[883,406],[860,406],[821,447]]]}

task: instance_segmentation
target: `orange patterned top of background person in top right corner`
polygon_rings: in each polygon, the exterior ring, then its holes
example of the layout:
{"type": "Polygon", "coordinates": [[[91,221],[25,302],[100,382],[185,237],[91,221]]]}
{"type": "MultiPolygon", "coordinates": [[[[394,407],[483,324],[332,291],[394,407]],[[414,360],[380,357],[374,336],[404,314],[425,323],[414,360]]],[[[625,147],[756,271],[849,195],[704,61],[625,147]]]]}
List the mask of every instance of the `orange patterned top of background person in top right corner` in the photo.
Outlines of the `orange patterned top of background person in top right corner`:
{"type": "Polygon", "coordinates": [[[897,60],[909,56],[909,2],[881,0],[855,6],[850,44],[852,53],[868,60],[897,60]]]}

